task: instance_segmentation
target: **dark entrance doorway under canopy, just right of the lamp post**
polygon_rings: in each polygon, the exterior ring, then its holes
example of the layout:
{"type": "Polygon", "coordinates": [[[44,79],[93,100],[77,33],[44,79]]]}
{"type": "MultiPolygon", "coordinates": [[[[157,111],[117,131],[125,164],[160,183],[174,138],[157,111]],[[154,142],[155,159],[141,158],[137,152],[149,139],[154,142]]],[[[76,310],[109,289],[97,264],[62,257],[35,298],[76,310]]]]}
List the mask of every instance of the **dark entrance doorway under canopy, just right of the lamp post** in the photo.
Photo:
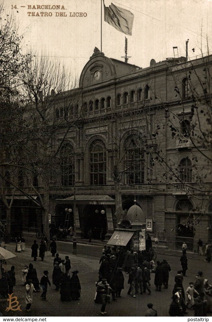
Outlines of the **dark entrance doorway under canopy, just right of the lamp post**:
{"type": "Polygon", "coordinates": [[[85,229],[84,238],[91,229],[93,239],[100,239],[101,230],[103,234],[107,231],[106,209],[102,205],[87,205],[84,209],[85,229]]]}

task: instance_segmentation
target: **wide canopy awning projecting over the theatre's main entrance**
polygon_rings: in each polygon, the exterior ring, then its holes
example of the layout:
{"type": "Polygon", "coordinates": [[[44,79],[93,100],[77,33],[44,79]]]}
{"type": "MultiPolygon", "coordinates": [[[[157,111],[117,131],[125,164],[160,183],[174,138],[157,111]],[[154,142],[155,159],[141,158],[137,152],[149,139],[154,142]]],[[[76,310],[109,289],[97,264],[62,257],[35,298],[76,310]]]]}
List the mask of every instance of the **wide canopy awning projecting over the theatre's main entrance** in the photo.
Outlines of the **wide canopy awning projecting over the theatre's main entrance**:
{"type": "MultiPolygon", "coordinates": [[[[75,200],[82,204],[115,204],[115,199],[107,195],[76,195],[75,200]]],[[[56,199],[56,201],[63,204],[73,203],[74,196],[65,199],[56,199]]]]}

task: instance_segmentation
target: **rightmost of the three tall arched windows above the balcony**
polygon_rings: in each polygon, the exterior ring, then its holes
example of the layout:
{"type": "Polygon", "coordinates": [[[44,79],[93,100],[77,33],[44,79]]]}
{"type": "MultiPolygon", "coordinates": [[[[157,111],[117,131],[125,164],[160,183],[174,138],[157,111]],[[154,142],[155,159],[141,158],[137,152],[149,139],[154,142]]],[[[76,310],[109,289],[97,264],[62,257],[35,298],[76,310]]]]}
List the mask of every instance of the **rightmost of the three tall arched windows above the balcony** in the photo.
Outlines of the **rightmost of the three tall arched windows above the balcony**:
{"type": "Polygon", "coordinates": [[[125,141],[126,184],[144,183],[144,149],[137,134],[125,141]]]}

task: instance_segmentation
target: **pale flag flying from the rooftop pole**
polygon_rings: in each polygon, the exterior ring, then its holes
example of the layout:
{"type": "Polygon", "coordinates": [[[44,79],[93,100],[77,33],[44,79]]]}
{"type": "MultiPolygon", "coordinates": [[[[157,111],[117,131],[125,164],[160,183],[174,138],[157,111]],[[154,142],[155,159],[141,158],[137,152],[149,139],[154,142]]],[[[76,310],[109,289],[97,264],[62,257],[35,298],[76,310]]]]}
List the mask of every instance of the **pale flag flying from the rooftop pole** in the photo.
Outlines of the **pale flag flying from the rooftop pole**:
{"type": "Polygon", "coordinates": [[[129,10],[117,7],[113,3],[106,7],[104,4],[104,20],[126,35],[132,35],[134,14],[129,10]]]}

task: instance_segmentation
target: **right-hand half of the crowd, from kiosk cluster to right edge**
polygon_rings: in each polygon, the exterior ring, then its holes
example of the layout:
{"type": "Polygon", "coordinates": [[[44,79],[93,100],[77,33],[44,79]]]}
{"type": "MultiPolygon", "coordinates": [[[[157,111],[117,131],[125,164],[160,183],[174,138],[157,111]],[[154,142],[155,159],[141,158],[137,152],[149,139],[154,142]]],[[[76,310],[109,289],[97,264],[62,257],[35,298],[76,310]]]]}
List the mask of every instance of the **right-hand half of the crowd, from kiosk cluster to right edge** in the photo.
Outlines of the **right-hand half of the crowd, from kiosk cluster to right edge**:
{"type": "MultiPolygon", "coordinates": [[[[183,243],[180,257],[182,270],[177,271],[174,279],[169,315],[184,316],[189,314],[187,309],[194,309],[194,316],[207,316],[207,312],[212,312],[212,286],[208,284],[208,279],[203,277],[202,271],[198,271],[196,280],[187,283],[186,291],[184,290],[183,277],[187,277],[188,269],[186,250],[187,245],[183,243]]],[[[99,264],[94,300],[102,305],[100,309],[102,315],[107,314],[106,304],[110,303],[111,299],[117,301],[121,297],[125,278],[129,284],[127,294],[132,298],[136,298],[137,294],[152,293],[151,273],[154,274],[156,291],[161,292],[162,286],[163,289],[168,289],[171,267],[167,259],[157,260],[155,265],[153,260],[148,259],[146,250],[134,253],[133,249],[125,251],[124,247],[117,249],[114,246],[111,249],[110,246],[104,246],[99,264]]],[[[145,316],[157,316],[152,303],[148,303],[147,307],[145,316]]]]}

